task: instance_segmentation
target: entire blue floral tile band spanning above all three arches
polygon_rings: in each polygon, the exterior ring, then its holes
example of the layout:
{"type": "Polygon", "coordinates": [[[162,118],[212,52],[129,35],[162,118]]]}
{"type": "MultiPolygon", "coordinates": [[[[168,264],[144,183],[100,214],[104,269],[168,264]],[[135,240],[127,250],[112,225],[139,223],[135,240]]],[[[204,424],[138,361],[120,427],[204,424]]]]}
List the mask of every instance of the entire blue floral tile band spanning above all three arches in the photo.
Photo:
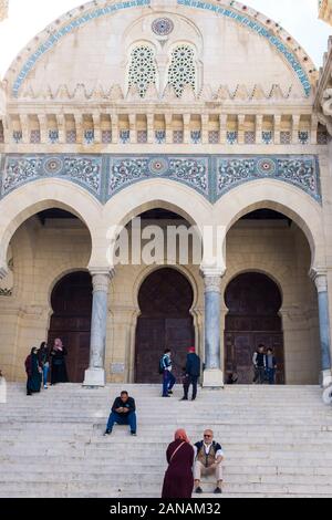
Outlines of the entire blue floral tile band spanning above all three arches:
{"type": "MultiPolygon", "coordinates": [[[[0,198],[44,178],[85,188],[102,204],[143,180],[184,184],[215,204],[229,190],[259,179],[290,184],[321,202],[320,168],[313,155],[7,155],[0,168],[0,198]]],[[[175,186],[176,189],[176,186],[175,186]]]]}

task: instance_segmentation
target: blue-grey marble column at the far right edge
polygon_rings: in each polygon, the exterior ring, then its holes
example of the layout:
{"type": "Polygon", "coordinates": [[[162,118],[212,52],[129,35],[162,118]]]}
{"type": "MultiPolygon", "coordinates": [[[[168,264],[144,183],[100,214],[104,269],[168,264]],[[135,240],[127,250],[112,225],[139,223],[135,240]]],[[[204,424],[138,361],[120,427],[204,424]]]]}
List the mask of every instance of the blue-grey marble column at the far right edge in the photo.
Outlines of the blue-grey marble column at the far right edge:
{"type": "Polygon", "coordinates": [[[318,290],[322,363],[321,382],[325,388],[332,384],[328,277],[325,272],[314,271],[312,278],[318,290]]]}

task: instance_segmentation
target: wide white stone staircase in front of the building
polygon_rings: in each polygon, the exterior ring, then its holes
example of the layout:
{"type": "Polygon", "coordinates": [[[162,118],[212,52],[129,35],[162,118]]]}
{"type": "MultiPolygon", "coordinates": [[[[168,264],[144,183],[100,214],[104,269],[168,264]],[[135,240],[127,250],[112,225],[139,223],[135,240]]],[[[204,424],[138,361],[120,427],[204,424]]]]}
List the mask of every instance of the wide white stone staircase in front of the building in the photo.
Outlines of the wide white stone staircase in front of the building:
{"type": "MultiPolygon", "coordinates": [[[[8,385],[0,404],[0,498],[160,497],[165,450],[176,428],[225,449],[226,497],[332,497],[332,408],[314,386],[229,386],[199,399],[160,398],[155,385],[84,389],[60,385],[27,397],[8,385]],[[138,436],[103,437],[121,389],[136,398],[138,436]]],[[[214,482],[204,482],[210,493],[214,482]]],[[[206,495],[209,496],[209,495],[206,495]]],[[[205,497],[206,497],[205,496],[205,497]]]]}

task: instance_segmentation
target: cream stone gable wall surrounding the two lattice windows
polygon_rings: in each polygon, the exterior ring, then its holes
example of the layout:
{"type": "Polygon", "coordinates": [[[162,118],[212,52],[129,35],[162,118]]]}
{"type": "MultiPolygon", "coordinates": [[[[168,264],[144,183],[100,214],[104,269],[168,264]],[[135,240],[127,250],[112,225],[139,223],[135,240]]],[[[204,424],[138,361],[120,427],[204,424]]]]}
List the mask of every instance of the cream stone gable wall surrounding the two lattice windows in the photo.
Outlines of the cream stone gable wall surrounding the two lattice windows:
{"type": "MultiPolygon", "coordinates": [[[[262,37],[239,25],[231,19],[209,11],[158,2],[152,9],[125,9],[90,21],[70,32],[44,54],[30,73],[24,84],[35,93],[50,85],[56,92],[66,85],[72,92],[77,84],[87,90],[101,85],[121,85],[126,93],[126,67],[128,53],[136,42],[152,42],[157,50],[162,86],[165,87],[165,70],[169,52],[178,42],[188,42],[197,50],[203,84],[218,90],[227,85],[234,92],[239,84],[249,90],[261,85],[267,93],[273,84],[287,93],[293,85],[294,93],[302,96],[303,90],[291,66],[262,37]],[[174,22],[173,33],[163,40],[163,45],[151,29],[154,19],[167,15],[174,22]],[[86,66],[89,63],[89,66],[86,66]]],[[[54,24],[54,29],[59,29],[54,24]]],[[[272,23],[270,30],[273,31],[272,23]]]]}

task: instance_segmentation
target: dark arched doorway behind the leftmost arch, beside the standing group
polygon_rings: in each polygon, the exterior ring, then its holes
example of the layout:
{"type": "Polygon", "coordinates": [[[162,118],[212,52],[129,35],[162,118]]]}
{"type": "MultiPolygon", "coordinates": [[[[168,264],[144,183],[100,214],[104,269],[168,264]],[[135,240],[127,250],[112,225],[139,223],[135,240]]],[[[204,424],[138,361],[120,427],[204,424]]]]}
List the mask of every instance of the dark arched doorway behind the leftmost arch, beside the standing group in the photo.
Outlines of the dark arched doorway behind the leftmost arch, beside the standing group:
{"type": "Polygon", "coordinates": [[[71,383],[83,383],[90,362],[92,313],[92,280],[87,272],[64,277],[53,289],[53,315],[49,331],[49,345],[56,337],[68,350],[66,367],[71,383]]]}

